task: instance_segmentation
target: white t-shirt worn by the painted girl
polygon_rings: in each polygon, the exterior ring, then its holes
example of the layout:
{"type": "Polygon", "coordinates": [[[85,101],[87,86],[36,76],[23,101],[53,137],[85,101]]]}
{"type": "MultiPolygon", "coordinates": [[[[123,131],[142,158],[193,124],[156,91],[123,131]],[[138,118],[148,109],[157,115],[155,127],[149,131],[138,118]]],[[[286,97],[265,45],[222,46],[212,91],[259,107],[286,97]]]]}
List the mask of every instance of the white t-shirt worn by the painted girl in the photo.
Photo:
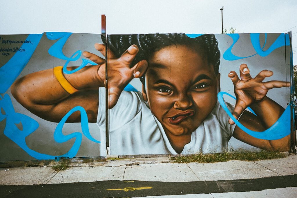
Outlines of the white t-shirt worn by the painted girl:
{"type": "MultiPolygon", "coordinates": [[[[97,124],[105,131],[105,88],[99,88],[97,124]],[[102,102],[103,101],[103,102],[102,102]]],[[[233,106],[227,103],[232,112],[233,106]]],[[[181,154],[228,151],[235,125],[219,102],[203,123],[192,132],[191,141],[181,154]]],[[[177,154],[161,123],[151,113],[141,92],[123,91],[116,106],[109,110],[110,155],[177,154]]]]}

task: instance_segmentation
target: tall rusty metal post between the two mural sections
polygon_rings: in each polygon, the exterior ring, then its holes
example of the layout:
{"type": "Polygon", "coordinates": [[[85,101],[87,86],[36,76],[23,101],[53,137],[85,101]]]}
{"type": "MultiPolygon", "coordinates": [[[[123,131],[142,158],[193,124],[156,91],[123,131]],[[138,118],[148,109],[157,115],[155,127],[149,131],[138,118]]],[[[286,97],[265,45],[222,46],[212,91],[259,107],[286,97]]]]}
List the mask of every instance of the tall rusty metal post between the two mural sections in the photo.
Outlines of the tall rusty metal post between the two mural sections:
{"type": "Polygon", "coordinates": [[[107,53],[107,34],[106,34],[106,16],[101,15],[101,34],[105,38],[105,134],[106,134],[106,151],[108,154],[109,147],[109,116],[108,116],[108,53],[107,53]]]}

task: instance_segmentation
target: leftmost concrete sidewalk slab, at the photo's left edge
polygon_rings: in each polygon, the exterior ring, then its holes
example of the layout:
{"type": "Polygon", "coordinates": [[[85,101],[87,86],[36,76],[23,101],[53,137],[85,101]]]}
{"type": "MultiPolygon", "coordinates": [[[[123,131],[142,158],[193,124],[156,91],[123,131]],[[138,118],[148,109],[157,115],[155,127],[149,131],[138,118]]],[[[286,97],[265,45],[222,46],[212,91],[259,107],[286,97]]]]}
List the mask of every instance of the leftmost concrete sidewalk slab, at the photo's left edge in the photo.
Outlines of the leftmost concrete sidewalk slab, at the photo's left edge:
{"type": "Polygon", "coordinates": [[[42,184],[55,174],[51,167],[0,168],[0,185],[42,184]]]}

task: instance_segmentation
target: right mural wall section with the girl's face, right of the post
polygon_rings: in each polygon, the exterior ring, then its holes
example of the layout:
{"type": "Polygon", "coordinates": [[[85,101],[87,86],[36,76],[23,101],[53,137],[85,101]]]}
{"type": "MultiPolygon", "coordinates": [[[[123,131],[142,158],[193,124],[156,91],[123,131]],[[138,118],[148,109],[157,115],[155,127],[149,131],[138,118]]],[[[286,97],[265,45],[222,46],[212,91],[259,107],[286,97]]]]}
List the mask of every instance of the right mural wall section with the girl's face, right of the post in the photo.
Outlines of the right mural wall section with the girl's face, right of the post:
{"type": "Polygon", "coordinates": [[[110,153],[287,151],[287,36],[109,35],[110,153]]]}

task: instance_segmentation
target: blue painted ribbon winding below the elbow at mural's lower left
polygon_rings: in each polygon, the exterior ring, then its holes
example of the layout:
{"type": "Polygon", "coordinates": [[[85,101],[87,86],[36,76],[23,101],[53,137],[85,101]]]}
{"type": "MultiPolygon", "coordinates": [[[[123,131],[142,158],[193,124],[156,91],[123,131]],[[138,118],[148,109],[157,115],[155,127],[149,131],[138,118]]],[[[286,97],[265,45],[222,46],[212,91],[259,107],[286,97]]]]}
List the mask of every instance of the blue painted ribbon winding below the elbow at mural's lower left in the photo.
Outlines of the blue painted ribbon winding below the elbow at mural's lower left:
{"type": "Polygon", "coordinates": [[[57,159],[61,157],[74,157],[78,152],[82,140],[82,135],[79,132],[74,132],[69,135],[63,135],[62,128],[67,118],[75,111],[80,111],[81,116],[81,129],[83,134],[90,140],[100,143],[100,141],[95,140],[91,137],[88,126],[88,117],[86,111],[82,107],[75,107],[70,110],[61,120],[61,122],[56,127],[54,132],[54,140],[59,143],[66,142],[72,138],[75,138],[75,142],[72,148],[65,154],[59,156],[52,156],[43,153],[38,153],[30,149],[26,144],[26,137],[33,133],[38,127],[39,124],[33,118],[30,118],[27,115],[21,113],[16,113],[12,105],[10,96],[4,94],[4,97],[0,96],[0,121],[3,121],[6,118],[6,126],[4,128],[4,135],[7,136],[10,140],[15,142],[20,148],[26,151],[30,156],[36,159],[57,159]],[[3,112],[3,113],[2,113],[3,112]],[[23,129],[19,129],[16,124],[23,126],[23,129]]]}

